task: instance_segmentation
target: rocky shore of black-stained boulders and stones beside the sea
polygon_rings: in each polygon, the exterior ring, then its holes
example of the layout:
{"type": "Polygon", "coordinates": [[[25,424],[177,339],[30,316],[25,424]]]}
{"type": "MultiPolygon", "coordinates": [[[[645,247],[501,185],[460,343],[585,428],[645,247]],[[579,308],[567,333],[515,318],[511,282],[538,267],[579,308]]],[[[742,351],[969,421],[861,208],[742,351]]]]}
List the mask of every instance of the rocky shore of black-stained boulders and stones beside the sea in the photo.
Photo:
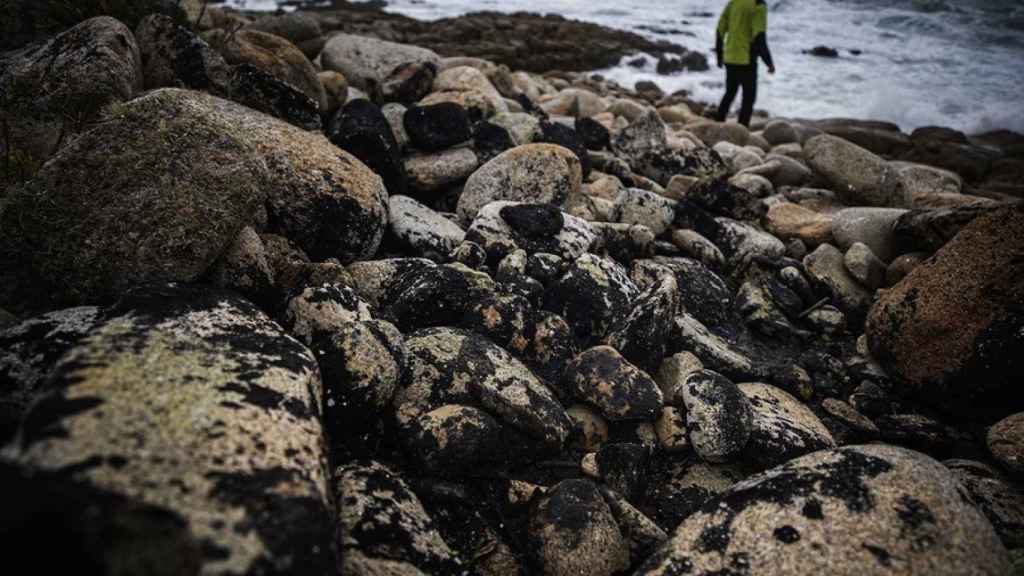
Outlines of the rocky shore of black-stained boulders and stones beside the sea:
{"type": "Polygon", "coordinates": [[[716,123],[554,17],[144,4],[0,53],[11,563],[1024,567],[1024,136],[716,123]]]}

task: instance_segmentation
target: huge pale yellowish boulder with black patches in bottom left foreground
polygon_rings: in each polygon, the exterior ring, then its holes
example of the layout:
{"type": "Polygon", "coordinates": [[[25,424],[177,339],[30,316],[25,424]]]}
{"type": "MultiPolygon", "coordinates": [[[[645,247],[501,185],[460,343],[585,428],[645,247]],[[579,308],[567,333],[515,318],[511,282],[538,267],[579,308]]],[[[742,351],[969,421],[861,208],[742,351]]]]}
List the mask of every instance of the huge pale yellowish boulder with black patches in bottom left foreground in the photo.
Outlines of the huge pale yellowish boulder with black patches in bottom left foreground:
{"type": "Polygon", "coordinates": [[[203,573],[332,570],[309,351],[205,287],[133,291],[104,316],[54,367],[16,459],[166,507],[203,542],[203,573]]]}

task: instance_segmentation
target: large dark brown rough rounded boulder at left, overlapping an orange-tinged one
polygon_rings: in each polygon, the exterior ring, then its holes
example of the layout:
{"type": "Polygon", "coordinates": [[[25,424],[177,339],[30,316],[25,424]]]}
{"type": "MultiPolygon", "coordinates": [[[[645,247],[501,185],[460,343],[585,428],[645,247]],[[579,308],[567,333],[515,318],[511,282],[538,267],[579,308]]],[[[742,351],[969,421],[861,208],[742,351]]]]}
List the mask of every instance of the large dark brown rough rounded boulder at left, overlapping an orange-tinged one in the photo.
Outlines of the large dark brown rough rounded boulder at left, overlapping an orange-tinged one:
{"type": "Polygon", "coordinates": [[[5,198],[5,295],[53,307],[200,278],[252,221],[271,179],[231,116],[275,122],[200,92],[162,90],[112,110],[60,149],[5,198]]]}

